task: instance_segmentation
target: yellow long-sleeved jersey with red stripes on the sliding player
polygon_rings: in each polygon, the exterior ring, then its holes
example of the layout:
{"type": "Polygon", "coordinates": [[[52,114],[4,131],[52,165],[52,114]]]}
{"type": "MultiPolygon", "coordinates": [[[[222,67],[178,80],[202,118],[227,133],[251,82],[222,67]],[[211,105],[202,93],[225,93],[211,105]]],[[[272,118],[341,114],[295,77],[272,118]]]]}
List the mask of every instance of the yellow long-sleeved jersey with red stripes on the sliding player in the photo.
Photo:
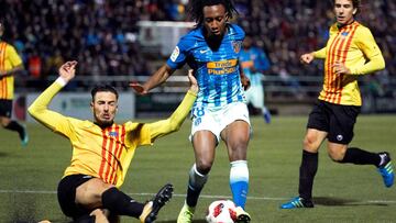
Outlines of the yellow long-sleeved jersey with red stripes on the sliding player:
{"type": "Polygon", "coordinates": [[[91,121],[64,116],[47,110],[47,104],[63,87],[59,82],[62,81],[55,81],[50,86],[32,103],[29,113],[70,141],[72,164],[66,168],[64,177],[76,174],[90,175],[117,187],[123,183],[136,147],[151,145],[155,138],[177,131],[196,99],[196,93],[188,91],[167,120],[153,123],[129,121],[101,129],[91,121]]]}

